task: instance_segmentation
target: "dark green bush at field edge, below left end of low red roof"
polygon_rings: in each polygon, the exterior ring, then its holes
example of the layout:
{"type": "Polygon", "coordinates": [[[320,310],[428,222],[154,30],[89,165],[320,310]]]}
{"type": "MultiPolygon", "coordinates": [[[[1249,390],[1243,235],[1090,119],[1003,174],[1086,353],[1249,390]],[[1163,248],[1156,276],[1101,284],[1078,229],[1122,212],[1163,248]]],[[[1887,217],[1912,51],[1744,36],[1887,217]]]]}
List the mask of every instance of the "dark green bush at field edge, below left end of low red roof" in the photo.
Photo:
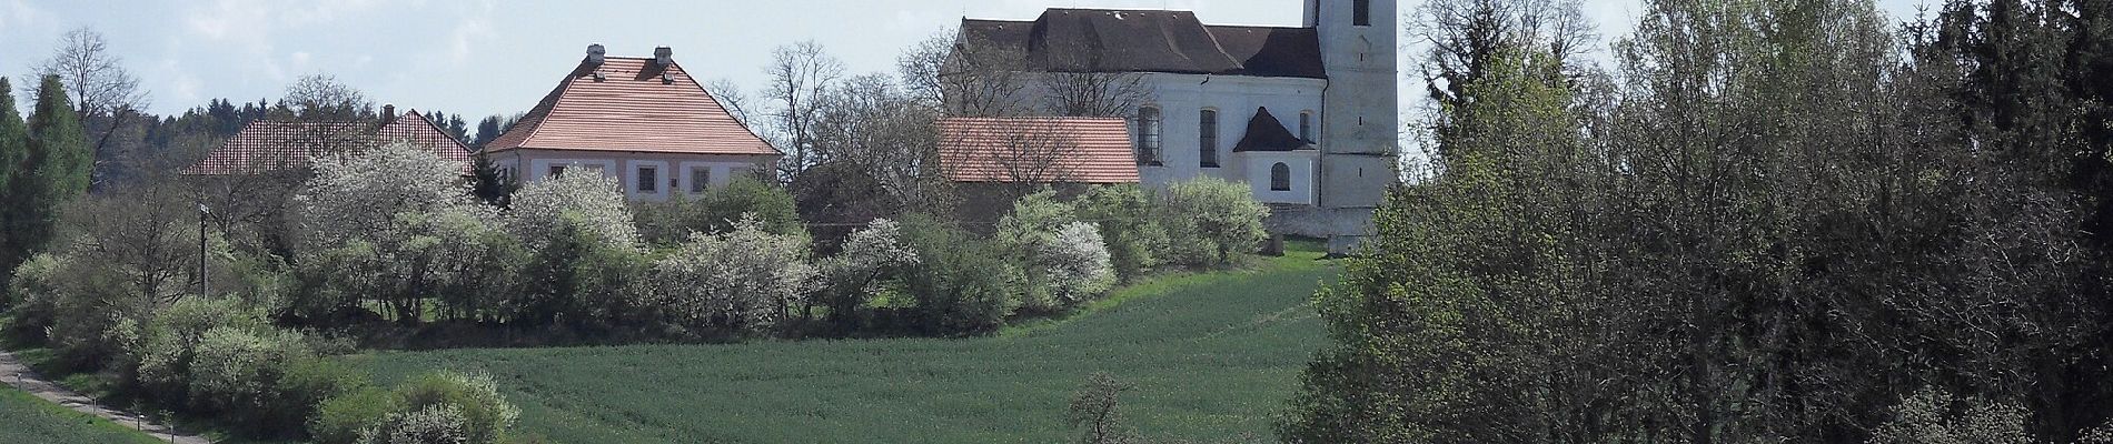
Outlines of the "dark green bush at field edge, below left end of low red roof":
{"type": "Polygon", "coordinates": [[[921,261],[902,284],[917,299],[913,311],[928,332],[987,332],[1021,305],[1025,274],[1006,263],[989,240],[928,217],[906,217],[902,242],[921,261]]]}

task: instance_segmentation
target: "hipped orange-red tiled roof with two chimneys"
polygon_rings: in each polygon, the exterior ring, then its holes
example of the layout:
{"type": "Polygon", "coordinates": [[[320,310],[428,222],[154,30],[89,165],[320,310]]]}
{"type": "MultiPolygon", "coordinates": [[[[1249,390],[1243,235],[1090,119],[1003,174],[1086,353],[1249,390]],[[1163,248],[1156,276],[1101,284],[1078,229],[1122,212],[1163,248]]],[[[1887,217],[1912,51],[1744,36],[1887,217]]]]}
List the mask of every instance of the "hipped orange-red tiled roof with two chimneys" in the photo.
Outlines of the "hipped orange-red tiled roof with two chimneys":
{"type": "Polygon", "coordinates": [[[632,57],[606,57],[600,65],[581,61],[520,124],[488,145],[492,152],[516,147],[778,156],[680,63],[661,67],[632,57]],[[674,82],[663,82],[663,74],[674,82]]]}

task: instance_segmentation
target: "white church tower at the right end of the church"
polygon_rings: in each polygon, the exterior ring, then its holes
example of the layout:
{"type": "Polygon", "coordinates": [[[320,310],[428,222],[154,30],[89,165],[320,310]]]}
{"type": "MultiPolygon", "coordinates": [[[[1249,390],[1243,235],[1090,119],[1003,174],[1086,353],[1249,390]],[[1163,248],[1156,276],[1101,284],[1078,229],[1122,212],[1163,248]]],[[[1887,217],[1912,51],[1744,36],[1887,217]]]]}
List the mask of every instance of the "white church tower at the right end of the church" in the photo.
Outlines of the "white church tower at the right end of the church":
{"type": "Polygon", "coordinates": [[[1344,227],[1346,236],[1369,227],[1371,208],[1395,183],[1399,19],[1395,0],[1306,0],[1306,27],[1321,36],[1321,61],[1327,65],[1316,198],[1321,210],[1342,213],[1333,219],[1354,219],[1354,227],[1344,227]]]}

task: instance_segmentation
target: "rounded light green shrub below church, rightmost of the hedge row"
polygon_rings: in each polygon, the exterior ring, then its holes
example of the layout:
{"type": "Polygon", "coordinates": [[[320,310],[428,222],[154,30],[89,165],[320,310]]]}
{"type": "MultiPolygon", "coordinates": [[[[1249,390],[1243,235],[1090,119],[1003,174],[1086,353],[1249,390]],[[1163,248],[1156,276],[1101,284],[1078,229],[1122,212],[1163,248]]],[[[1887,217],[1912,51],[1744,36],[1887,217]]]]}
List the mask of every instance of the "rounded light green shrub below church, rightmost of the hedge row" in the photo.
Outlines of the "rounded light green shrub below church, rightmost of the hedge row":
{"type": "Polygon", "coordinates": [[[1261,244],[1264,217],[1270,208],[1255,202],[1247,185],[1217,177],[1173,183],[1158,208],[1168,238],[1164,259],[1190,267],[1223,265],[1261,244]]]}

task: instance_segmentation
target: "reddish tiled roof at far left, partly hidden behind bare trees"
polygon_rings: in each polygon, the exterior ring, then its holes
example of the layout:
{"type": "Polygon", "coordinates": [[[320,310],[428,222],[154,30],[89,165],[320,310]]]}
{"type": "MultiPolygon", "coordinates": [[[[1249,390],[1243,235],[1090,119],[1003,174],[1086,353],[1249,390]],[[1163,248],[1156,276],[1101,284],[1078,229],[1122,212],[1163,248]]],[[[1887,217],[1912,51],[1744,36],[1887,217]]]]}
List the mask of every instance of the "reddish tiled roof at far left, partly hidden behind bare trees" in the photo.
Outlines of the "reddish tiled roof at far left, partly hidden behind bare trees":
{"type": "Polygon", "coordinates": [[[406,112],[380,128],[361,122],[279,122],[254,120],[241,133],[228,137],[218,149],[184,168],[184,175],[249,175],[285,168],[306,168],[308,162],[332,147],[368,149],[385,143],[410,141],[431,149],[444,160],[454,160],[469,170],[469,147],[442,133],[418,112],[406,112]]]}

